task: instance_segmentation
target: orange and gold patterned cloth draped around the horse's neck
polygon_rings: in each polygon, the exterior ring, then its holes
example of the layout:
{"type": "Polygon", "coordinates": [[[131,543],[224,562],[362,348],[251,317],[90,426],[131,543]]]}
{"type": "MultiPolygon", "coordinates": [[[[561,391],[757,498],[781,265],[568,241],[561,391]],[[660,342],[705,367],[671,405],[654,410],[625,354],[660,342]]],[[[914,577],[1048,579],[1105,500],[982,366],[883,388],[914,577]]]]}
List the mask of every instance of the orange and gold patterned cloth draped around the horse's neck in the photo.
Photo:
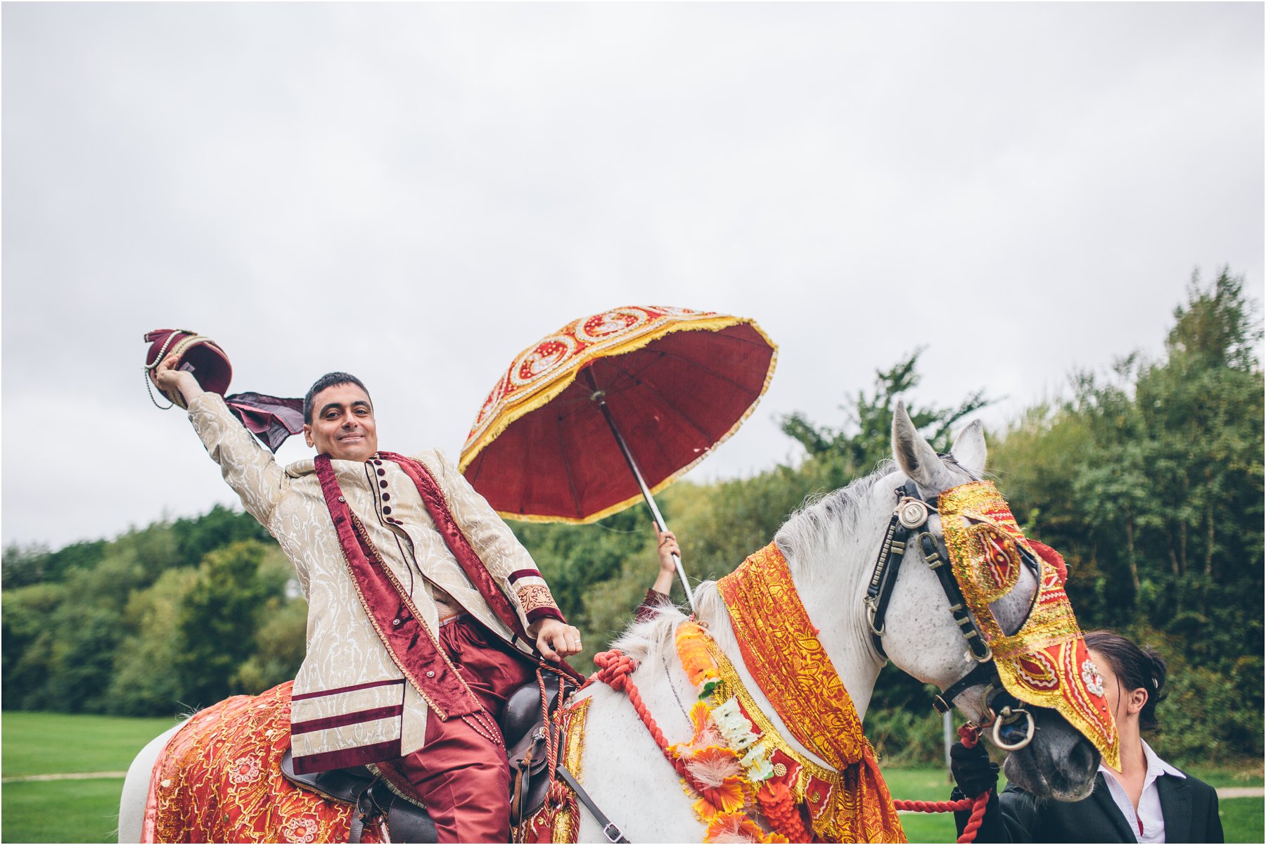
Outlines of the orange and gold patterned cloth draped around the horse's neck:
{"type": "Polygon", "coordinates": [[[708,637],[719,675],[711,689],[717,702],[711,715],[724,734],[729,734],[727,723],[743,722],[741,732],[751,735],[741,741],[748,742],[743,766],[760,777],[771,796],[785,788],[808,811],[813,832],[823,840],[904,842],[905,832],[857,709],[818,640],[777,545],[751,555],[717,581],[717,589],[729,609],[743,663],[761,692],[791,735],[833,769],[799,754],[779,735],[724,652],[708,637]],[[756,759],[765,754],[763,760],[756,759]]]}

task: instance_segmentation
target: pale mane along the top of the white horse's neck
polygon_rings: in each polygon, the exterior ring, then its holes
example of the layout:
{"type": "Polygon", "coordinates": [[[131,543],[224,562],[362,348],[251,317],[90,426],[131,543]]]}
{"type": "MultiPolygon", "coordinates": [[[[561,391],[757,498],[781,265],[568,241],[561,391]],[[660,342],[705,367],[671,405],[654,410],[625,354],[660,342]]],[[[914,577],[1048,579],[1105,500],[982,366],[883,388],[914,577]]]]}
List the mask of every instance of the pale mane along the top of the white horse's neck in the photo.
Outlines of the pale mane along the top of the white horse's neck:
{"type": "MultiPolygon", "coordinates": [[[[838,555],[853,538],[853,526],[858,511],[865,505],[871,489],[895,466],[891,460],[880,461],[875,471],[830,493],[814,493],[805,497],[804,503],[791,512],[775,535],[774,541],[787,559],[787,565],[800,580],[801,587],[813,588],[817,580],[838,578],[838,571],[818,566],[806,569],[803,561],[828,560],[838,555]]],[[[736,564],[737,565],[737,564],[736,564]]],[[[695,590],[695,607],[701,618],[723,618],[724,604],[714,589],[708,589],[714,581],[703,581],[695,590]]],[[[613,649],[628,654],[637,661],[670,647],[674,632],[686,614],[680,607],[662,606],[644,622],[634,622],[611,644],[613,649]]]]}

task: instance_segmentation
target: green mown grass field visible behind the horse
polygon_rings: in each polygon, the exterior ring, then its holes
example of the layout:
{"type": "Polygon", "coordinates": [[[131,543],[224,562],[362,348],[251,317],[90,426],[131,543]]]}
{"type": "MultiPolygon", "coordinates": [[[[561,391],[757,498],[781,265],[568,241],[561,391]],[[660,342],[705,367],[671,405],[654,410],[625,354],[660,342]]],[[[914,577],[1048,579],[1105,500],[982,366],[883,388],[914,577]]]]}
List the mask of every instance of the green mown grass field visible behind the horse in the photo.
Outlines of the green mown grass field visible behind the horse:
{"type": "MultiPolygon", "coordinates": [[[[0,715],[0,773],[4,778],[82,772],[123,772],[146,742],[171,727],[171,720],[0,715]]],[[[1193,774],[1215,787],[1260,787],[1262,770],[1200,769],[1193,774]]],[[[944,801],[950,784],[943,769],[887,768],[894,798],[944,801]]],[[[10,782],[0,787],[0,841],[105,842],[114,839],[123,778],[10,782]]],[[[1262,798],[1220,802],[1228,842],[1263,841],[1262,798]]],[[[952,842],[948,813],[905,813],[901,825],[912,842],[952,842]]]]}

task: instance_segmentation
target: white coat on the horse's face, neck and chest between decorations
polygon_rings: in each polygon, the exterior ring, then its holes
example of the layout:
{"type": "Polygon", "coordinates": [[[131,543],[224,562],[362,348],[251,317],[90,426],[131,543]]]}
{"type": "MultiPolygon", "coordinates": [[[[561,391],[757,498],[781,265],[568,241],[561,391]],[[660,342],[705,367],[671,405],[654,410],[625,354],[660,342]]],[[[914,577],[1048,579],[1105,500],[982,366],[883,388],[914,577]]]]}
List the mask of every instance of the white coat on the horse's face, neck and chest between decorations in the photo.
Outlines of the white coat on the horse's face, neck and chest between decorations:
{"type": "MultiPolygon", "coordinates": [[[[953,454],[957,462],[942,461],[914,429],[905,409],[898,408],[894,455],[903,473],[891,471],[891,465],[885,464],[875,474],[804,507],[775,536],[809,618],[820,630],[823,649],[863,720],[884,664],[871,644],[862,598],[896,504],[894,493],[906,478],[914,478],[924,495],[977,479],[985,461],[979,423],[960,435],[953,454]]],[[[967,656],[936,575],[917,561],[917,555],[912,555],[901,566],[889,606],[884,647],[903,670],[943,689],[967,674],[975,661],[967,656]]],[[[1027,597],[1018,600],[1024,604],[1027,597]]],[[[728,613],[713,581],[704,581],[695,590],[695,606],[698,618],[708,623],[730,656],[748,692],[766,716],[781,725],[738,655],[728,613]]],[[[684,708],[698,697],[680,668],[672,641],[672,631],[684,618],[677,611],[663,612],[630,628],[615,644],[641,661],[633,682],[670,742],[690,739],[684,708]]],[[[694,798],[681,789],[676,773],[625,697],[604,687],[592,698],[581,780],[595,803],[629,841],[703,841],[704,826],[691,810],[694,798]]],[[[781,734],[801,754],[815,759],[789,731],[784,728],[781,734]]],[[[580,841],[605,841],[589,813],[582,813],[580,841]]]]}

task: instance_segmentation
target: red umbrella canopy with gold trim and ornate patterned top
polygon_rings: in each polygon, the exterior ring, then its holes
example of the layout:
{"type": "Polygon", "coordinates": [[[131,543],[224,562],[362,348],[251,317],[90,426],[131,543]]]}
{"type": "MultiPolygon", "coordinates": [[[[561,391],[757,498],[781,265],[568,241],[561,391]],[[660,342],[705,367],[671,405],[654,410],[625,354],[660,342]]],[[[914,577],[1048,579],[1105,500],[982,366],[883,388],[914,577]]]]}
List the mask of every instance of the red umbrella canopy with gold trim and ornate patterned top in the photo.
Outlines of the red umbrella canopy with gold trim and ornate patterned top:
{"type": "Polygon", "coordinates": [[[613,428],[658,492],[734,433],[776,361],[743,317],[662,305],[584,317],[514,359],[458,466],[501,516],[592,522],[642,495],[613,428]]]}

